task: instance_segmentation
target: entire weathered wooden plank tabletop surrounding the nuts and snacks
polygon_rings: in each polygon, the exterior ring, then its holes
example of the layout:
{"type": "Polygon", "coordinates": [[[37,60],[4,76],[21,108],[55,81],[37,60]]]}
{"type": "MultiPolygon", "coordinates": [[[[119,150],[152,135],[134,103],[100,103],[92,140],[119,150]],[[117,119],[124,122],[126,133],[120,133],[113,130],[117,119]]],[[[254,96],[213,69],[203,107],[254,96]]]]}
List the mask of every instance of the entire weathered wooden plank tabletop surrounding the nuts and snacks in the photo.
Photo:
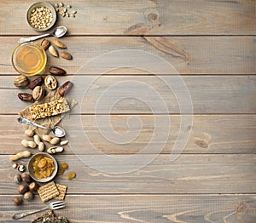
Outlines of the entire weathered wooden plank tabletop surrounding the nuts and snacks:
{"type": "MultiPolygon", "coordinates": [[[[9,161],[10,154],[24,150],[20,146],[24,129],[16,117],[28,104],[17,94],[29,92],[13,85],[17,72],[10,58],[20,37],[39,34],[26,24],[26,9],[33,2],[1,2],[1,222],[14,222],[13,214],[44,207],[38,196],[20,207],[14,205],[16,170],[9,161]]],[[[53,58],[48,52],[47,66],[67,70],[67,76],[57,77],[60,84],[74,82],[70,97],[79,104],[65,118],[70,143],[55,157],[67,162],[68,172],[75,171],[77,177],[67,180],[63,174],[55,179],[68,186],[67,208],[55,214],[70,222],[256,222],[255,1],[64,3],[78,11],[75,18],[59,16],[55,25],[67,26],[67,36],[61,40],[73,60],[53,58]],[[125,58],[127,52],[131,54],[125,58]],[[124,58],[141,67],[122,67],[124,58]],[[166,72],[159,60],[177,73],[166,72]],[[152,73],[154,67],[157,75],[152,73]],[[145,86],[166,106],[158,106],[145,86]],[[176,95],[186,98],[184,86],[193,105],[190,111],[189,104],[179,101],[185,115],[176,95]],[[189,117],[193,124],[181,124],[189,117]],[[167,119],[172,123],[169,131],[167,119]],[[172,161],[179,129],[182,137],[189,134],[188,143],[172,161]],[[108,131],[113,139],[106,137],[111,136],[108,131]],[[133,133],[138,135],[122,141],[122,136],[133,133]],[[164,145],[160,141],[145,149],[154,135],[161,134],[169,137],[164,145]],[[90,149],[93,146],[96,150],[90,149]],[[124,156],[130,157],[123,162],[124,156]]]]}

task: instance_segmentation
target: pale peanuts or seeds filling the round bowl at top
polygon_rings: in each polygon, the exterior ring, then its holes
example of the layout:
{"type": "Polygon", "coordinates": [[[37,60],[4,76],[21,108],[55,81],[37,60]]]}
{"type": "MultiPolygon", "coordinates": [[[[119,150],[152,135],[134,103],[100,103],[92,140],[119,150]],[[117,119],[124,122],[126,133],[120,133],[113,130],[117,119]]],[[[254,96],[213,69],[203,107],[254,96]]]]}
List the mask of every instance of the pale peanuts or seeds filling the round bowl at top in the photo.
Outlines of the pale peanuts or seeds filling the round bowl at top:
{"type": "Polygon", "coordinates": [[[53,20],[53,14],[45,7],[38,7],[32,10],[30,15],[30,23],[37,29],[47,28],[53,20]]]}

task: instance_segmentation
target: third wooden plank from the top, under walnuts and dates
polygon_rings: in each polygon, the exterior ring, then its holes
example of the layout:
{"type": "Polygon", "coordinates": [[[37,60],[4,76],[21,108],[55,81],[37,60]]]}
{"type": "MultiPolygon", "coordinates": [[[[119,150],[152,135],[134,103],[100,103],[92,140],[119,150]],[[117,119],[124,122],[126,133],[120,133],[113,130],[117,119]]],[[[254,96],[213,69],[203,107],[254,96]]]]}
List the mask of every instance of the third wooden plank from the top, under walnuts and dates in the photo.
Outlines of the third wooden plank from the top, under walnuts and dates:
{"type": "MultiPolygon", "coordinates": [[[[13,84],[14,77],[4,77],[13,84]]],[[[78,76],[57,77],[74,83],[69,97],[79,102],[73,113],[173,114],[256,112],[256,76],[78,76]],[[191,101],[189,101],[189,97],[191,101]],[[192,106],[193,111],[192,111],[192,106]]],[[[31,90],[0,89],[1,114],[17,114],[29,103],[17,94],[31,90]]]]}

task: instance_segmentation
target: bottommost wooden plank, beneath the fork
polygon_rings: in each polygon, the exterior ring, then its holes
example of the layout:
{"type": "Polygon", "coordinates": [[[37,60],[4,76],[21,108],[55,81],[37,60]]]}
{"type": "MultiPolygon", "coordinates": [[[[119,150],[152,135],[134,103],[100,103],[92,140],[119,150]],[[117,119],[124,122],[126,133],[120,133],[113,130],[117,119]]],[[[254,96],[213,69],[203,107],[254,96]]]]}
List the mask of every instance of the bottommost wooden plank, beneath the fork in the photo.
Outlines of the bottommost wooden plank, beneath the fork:
{"type": "MultiPolygon", "coordinates": [[[[40,209],[44,204],[37,198],[15,207],[13,196],[3,195],[0,216],[6,222],[20,211],[40,209]],[[32,205],[32,207],[31,207],[32,205]]],[[[253,222],[256,199],[252,195],[68,195],[67,208],[55,214],[66,216],[70,222],[253,222]]],[[[42,214],[42,213],[40,213],[42,214]]],[[[30,222],[40,214],[22,220],[30,222]]]]}

